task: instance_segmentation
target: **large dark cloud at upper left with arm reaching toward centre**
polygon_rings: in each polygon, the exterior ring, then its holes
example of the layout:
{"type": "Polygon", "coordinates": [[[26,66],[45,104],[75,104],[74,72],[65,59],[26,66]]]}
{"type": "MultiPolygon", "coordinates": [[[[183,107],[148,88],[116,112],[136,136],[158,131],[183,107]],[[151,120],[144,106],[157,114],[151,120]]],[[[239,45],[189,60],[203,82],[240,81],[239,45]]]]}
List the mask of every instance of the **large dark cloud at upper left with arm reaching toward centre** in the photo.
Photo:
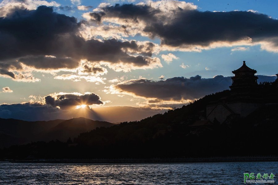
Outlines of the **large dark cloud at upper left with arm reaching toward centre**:
{"type": "Polygon", "coordinates": [[[143,48],[135,41],[85,40],[79,36],[80,26],[76,18],[47,6],[15,9],[1,17],[1,74],[15,78],[10,69],[18,68],[20,63],[39,69],[76,68],[81,59],[146,67],[151,64],[154,45],[143,48]]]}

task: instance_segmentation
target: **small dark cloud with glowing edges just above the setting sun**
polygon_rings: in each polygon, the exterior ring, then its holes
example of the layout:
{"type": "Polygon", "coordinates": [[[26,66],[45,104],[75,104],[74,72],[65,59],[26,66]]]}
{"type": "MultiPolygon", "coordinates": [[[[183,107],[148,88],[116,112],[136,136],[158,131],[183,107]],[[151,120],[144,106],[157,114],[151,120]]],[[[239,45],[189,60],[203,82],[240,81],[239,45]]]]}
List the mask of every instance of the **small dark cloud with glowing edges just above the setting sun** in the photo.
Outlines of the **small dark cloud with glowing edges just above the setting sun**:
{"type": "Polygon", "coordinates": [[[100,100],[99,95],[95,93],[91,94],[62,94],[58,95],[55,100],[54,97],[45,97],[46,105],[51,105],[53,107],[59,106],[60,108],[71,108],[76,105],[102,105],[103,101],[100,100]]]}

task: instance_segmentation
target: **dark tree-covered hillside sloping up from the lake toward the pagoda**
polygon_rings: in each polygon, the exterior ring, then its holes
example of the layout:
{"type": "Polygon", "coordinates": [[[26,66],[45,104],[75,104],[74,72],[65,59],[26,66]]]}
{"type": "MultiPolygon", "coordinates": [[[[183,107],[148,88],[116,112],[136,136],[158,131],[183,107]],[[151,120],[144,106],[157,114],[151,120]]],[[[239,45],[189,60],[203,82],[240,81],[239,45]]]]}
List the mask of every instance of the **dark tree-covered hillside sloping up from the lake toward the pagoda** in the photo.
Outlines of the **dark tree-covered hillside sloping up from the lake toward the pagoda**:
{"type": "MultiPolygon", "coordinates": [[[[276,86],[262,84],[260,87],[267,102],[273,96],[277,97],[276,86]]],[[[278,156],[277,150],[273,149],[278,130],[277,103],[267,103],[244,118],[233,115],[222,124],[215,121],[194,127],[200,121],[206,121],[200,119],[205,117],[205,108],[209,102],[220,100],[229,94],[229,90],[217,92],[182,108],[168,110],[164,114],[156,114],[141,121],[96,128],[79,134],[73,141],[34,142],[10,147],[0,151],[0,157],[24,159],[28,156],[33,158],[278,156]]],[[[68,126],[72,127],[70,124],[68,126]]]]}

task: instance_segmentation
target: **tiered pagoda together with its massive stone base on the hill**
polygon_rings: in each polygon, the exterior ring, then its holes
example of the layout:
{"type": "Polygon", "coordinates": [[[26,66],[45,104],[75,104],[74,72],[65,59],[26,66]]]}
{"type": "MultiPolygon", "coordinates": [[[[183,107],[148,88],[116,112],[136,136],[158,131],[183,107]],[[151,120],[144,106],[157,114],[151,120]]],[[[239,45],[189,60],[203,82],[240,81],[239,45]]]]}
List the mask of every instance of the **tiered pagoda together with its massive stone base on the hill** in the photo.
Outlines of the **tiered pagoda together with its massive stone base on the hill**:
{"type": "Polygon", "coordinates": [[[263,105],[255,76],[257,71],[243,61],[242,66],[232,72],[235,76],[232,77],[230,96],[210,102],[206,107],[207,119],[211,122],[223,123],[230,116],[246,117],[263,105]]]}

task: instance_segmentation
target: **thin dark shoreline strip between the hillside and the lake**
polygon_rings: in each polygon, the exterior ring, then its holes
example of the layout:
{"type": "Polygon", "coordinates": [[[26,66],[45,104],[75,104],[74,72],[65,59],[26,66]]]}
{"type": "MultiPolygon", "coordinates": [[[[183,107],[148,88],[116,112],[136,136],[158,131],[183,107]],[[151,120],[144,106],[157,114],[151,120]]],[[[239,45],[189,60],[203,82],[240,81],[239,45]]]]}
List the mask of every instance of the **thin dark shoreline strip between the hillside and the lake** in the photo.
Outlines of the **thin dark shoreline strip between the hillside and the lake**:
{"type": "Polygon", "coordinates": [[[278,157],[149,158],[149,159],[32,159],[4,160],[12,163],[178,163],[178,162],[266,162],[278,157]]]}

